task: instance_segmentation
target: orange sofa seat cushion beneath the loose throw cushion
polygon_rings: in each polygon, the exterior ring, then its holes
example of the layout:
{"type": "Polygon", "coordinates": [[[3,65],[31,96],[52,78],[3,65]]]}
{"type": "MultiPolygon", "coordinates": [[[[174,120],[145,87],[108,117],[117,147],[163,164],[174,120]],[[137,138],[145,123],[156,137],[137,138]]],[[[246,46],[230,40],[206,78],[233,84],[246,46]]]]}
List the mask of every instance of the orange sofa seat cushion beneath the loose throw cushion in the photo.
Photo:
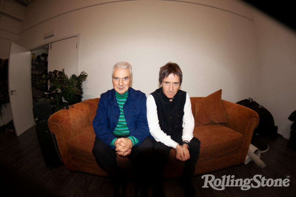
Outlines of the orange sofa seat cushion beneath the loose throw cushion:
{"type": "Polygon", "coordinates": [[[195,126],[194,137],[200,140],[199,160],[217,157],[242,148],[241,133],[221,124],[195,126]]]}

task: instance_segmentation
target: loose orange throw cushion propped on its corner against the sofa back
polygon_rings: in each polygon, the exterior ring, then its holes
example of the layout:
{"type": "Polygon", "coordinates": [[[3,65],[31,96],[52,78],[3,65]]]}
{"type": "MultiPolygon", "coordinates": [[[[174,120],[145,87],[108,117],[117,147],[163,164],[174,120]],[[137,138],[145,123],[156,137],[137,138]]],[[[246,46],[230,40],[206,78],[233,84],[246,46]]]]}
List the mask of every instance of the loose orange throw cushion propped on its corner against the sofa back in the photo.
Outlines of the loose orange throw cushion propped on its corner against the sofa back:
{"type": "Polygon", "coordinates": [[[195,126],[226,123],[227,117],[221,103],[222,89],[195,103],[195,126]]]}

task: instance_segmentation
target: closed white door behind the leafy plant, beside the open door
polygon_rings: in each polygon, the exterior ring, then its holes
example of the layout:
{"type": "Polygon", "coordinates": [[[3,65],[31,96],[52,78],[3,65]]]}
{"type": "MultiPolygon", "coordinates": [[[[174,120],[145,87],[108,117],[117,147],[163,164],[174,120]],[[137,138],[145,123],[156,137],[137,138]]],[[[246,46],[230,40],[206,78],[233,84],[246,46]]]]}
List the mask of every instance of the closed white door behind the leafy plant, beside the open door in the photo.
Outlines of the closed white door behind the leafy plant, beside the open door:
{"type": "Polygon", "coordinates": [[[68,38],[49,44],[47,71],[62,71],[70,78],[72,74],[78,73],[78,37],[68,38]]]}

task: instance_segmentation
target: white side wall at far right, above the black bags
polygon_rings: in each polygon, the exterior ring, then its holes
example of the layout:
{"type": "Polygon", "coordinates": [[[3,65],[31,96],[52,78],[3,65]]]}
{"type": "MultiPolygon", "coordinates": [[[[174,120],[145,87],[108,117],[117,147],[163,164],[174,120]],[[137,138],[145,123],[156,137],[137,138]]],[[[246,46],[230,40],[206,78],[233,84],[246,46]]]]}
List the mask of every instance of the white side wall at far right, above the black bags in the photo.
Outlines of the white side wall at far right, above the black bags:
{"type": "Polygon", "coordinates": [[[289,115],[296,110],[296,33],[265,14],[254,12],[258,44],[258,103],[274,117],[278,133],[290,137],[289,115]]]}

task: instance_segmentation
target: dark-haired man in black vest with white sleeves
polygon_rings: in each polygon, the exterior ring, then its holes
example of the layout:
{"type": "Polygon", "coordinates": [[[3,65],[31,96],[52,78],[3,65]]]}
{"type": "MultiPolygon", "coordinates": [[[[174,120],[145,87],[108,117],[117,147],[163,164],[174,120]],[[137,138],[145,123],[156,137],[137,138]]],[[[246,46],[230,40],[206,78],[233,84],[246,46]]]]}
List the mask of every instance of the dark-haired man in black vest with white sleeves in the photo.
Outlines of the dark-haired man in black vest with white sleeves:
{"type": "Polygon", "coordinates": [[[155,185],[154,196],[165,196],[162,188],[166,157],[173,148],[176,159],[185,162],[181,184],[185,196],[194,196],[192,175],[199,157],[200,141],[193,136],[194,118],[189,95],[179,90],[182,71],[178,64],[167,63],[160,68],[162,87],[147,97],[147,120],[154,137],[155,185]]]}

